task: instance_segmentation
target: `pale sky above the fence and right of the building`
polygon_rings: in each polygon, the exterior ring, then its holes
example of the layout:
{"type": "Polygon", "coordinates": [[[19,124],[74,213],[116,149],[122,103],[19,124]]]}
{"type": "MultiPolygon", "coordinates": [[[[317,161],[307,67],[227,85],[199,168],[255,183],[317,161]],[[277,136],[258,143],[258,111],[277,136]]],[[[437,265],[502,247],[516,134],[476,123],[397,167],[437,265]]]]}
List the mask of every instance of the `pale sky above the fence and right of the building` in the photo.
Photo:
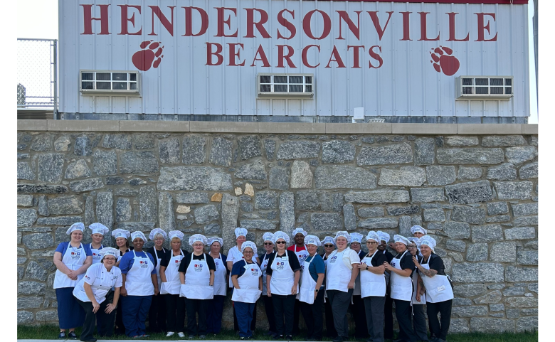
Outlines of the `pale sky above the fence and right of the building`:
{"type": "MultiPolygon", "coordinates": [[[[547,0],[552,1],[552,0],[547,0]]],[[[58,39],[58,0],[18,0],[17,37],[58,39]]],[[[538,123],[536,102],[536,68],[534,66],[533,0],[529,1],[530,117],[529,124],[538,123]]],[[[543,6],[543,5],[542,5],[543,6]]]]}

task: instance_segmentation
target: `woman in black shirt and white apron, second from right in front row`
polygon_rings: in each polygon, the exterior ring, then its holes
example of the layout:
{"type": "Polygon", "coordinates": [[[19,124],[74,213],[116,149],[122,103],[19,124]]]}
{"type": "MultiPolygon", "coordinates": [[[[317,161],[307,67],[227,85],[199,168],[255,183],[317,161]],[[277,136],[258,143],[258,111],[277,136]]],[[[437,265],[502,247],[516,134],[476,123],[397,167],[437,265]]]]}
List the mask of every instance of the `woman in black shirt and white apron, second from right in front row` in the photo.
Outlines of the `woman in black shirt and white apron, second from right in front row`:
{"type": "Polygon", "coordinates": [[[401,235],[394,235],[393,241],[397,255],[391,263],[384,262],[386,270],[391,273],[391,299],[395,301],[395,316],[399,324],[399,339],[416,342],[418,340],[411,323],[411,299],[413,296],[413,281],[411,274],[414,270],[413,256],[407,250],[408,239],[401,235]]]}

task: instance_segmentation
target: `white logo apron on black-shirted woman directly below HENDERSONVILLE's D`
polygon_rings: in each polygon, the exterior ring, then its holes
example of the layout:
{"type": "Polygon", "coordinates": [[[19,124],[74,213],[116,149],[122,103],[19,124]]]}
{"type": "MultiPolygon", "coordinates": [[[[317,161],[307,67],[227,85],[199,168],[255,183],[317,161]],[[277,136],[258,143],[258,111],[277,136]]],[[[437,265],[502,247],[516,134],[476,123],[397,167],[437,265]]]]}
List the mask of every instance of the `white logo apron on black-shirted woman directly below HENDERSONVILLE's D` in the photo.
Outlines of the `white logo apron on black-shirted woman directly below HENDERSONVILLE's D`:
{"type": "Polygon", "coordinates": [[[193,260],[185,272],[185,284],[181,285],[179,296],[188,299],[213,299],[214,287],[210,286],[210,269],[206,263],[206,254],[203,260],[193,260]]]}

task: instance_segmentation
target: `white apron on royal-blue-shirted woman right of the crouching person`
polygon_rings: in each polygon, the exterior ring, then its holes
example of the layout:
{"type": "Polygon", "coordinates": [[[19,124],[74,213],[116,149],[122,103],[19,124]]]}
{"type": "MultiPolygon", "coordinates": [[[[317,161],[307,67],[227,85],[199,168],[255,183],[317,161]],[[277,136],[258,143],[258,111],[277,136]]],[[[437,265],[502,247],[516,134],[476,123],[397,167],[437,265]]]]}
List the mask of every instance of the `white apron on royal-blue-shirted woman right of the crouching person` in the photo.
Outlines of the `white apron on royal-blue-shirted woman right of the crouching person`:
{"type": "Polygon", "coordinates": [[[125,276],[125,289],[128,296],[152,296],[154,295],[154,284],[150,274],[154,269],[152,260],[143,252],[144,257],[138,257],[133,250],[133,266],[125,276]]]}

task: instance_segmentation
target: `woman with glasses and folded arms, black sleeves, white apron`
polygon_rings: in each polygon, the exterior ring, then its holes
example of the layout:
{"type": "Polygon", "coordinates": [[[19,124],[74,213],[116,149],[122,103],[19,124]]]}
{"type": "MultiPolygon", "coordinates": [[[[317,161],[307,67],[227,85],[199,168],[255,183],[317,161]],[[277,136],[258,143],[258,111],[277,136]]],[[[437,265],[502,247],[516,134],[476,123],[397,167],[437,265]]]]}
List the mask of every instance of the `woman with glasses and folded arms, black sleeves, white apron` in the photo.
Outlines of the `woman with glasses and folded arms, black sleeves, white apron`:
{"type": "Polygon", "coordinates": [[[384,253],[378,250],[381,237],[371,230],[366,235],[368,253],[363,255],[360,269],[361,297],[366,310],[366,328],[368,341],[384,342],[384,304],[386,303],[386,277],[384,275],[387,261],[384,253]]]}

